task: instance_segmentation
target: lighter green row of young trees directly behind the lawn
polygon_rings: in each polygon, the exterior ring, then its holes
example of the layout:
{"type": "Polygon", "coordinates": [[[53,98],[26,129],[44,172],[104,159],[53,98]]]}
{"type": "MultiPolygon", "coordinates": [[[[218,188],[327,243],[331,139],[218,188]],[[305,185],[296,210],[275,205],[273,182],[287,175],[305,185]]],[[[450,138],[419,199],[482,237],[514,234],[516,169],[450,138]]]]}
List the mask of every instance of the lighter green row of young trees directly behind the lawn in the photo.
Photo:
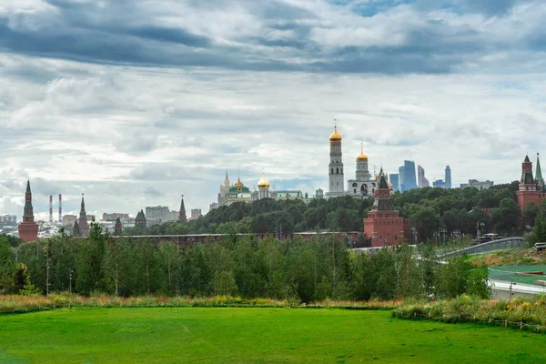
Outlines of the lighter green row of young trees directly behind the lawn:
{"type": "Polygon", "coordinates": [[[452,298],[488,295],[487,272],[463,258],[440,263],[430,246],[355,252],[333,237],[279,241],[227,236],[179,248],[112,238],[92,224],[88,238],[10,247],[0,238],[0,294],[71,291],[116,296],[243,298],[452,298]]]}

